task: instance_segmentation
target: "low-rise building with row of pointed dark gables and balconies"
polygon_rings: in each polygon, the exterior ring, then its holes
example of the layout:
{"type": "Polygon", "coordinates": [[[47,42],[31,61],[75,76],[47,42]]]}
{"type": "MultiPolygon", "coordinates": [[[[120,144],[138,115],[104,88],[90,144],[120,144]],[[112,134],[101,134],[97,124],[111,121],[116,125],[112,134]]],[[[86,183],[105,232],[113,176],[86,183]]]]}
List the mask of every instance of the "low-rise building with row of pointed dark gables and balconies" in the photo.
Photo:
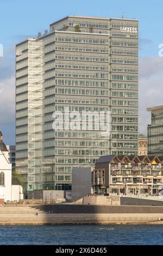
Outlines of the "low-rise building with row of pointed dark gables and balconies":
{"type": "Polygon", "coordinates": [[[95,194],[159,194],[163,191],[163,156],[102,156],[92,172],[95,194]]]}

